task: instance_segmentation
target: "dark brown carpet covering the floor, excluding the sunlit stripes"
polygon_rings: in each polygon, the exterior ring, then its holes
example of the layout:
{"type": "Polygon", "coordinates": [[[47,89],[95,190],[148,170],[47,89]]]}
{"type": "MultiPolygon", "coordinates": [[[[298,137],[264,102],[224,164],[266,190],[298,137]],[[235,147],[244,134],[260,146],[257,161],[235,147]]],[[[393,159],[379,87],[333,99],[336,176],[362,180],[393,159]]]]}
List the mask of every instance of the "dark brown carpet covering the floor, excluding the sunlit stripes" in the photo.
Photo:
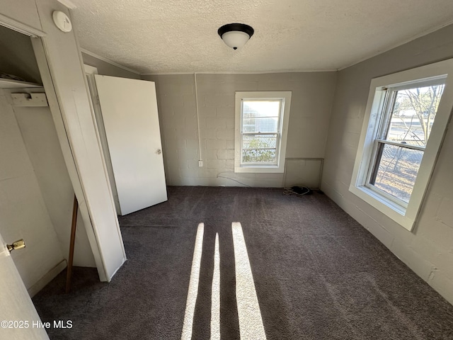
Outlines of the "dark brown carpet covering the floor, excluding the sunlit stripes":
{"type": "Polygon", "coordinates": [[[193,339],[210,338],[219,233],[222,339],[239,339],[231,222],[241,222],[267,339],[453,339],[449,305],[322,193],[169,187],[168,202],[120,217],[128,261],[112,282],[75,268],[33,298],[50,339],[180,339],[195,234],[205,222],[193,339]]]}

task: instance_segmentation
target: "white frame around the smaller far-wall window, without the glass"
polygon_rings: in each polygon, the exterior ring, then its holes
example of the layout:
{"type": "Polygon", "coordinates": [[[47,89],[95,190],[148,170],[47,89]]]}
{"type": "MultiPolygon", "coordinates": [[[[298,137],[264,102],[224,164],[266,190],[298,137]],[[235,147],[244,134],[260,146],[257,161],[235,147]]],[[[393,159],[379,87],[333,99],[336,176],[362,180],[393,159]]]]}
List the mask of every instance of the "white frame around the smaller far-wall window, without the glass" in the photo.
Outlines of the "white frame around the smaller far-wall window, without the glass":
{"type": "Polygon", "coordinates": [[[238,91],[235,96],[234,172],[283,173],[291,107],[291,91],[238,91]],[[277,132],[277,164],[241,164],[242,154],[242,102],[253,100],[280,100],[279,128],[277,132]]]}

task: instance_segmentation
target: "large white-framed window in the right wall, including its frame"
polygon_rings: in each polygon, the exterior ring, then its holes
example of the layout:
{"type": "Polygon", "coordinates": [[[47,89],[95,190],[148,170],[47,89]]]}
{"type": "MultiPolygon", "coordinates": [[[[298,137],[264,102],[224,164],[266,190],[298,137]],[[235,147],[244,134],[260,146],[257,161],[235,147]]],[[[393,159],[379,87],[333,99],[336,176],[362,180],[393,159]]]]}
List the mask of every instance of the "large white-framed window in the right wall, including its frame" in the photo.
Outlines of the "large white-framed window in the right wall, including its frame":
{"type": "Polygon", "coordinates": [[[350,191],[411,230],[453,106],[453,60],[372,79],[350,191]]]}

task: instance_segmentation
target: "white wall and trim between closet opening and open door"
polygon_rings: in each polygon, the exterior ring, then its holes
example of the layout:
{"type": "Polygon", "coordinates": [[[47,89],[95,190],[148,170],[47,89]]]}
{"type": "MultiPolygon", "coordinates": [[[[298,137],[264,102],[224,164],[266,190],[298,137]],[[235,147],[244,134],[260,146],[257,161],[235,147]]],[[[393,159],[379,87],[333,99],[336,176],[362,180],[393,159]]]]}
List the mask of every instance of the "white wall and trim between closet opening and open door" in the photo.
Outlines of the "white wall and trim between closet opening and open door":
{"type": "Polygon", "coordinates": [[[0,0],[0,21],[43,37],[32,39],[42,83],[99,276],[110,280],[126,260],[125,250],[81,52],[74,31],[63,33],[55,26],[53,11],[70,15],[57,0],[0,0]]]}

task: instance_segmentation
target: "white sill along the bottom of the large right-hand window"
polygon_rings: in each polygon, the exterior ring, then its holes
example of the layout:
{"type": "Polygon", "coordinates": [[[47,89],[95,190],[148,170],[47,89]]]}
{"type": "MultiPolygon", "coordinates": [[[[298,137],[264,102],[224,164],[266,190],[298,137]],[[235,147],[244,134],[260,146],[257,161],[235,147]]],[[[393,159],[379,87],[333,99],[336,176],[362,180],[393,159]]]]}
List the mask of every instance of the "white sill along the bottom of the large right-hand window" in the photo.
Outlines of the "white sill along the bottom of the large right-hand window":
{"type": "Polygon", "coordinates": [[[396,204],[394,201],[379,195],[365,186],[350,186],[349,191],[358,198],[365,200],[373,208],[379,210],[394,222],[398,223],[409,231],[412,230],[414,220],[406,216],[406,208],[396,204]]]}

